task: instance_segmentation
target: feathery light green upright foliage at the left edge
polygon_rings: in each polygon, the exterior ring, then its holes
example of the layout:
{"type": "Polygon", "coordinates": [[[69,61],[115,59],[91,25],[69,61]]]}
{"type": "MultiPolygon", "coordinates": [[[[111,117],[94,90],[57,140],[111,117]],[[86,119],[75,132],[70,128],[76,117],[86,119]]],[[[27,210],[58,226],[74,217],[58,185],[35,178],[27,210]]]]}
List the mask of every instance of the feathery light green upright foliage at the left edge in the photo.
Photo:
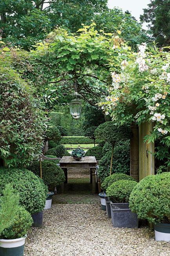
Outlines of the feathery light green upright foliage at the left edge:
{"type": "Polygon", "coordinates": [[[2,231],[13,223],[18,210],[19,196],[14,193],[13,186],[7,184],[0,197],[0,236],[2,231]]]}

